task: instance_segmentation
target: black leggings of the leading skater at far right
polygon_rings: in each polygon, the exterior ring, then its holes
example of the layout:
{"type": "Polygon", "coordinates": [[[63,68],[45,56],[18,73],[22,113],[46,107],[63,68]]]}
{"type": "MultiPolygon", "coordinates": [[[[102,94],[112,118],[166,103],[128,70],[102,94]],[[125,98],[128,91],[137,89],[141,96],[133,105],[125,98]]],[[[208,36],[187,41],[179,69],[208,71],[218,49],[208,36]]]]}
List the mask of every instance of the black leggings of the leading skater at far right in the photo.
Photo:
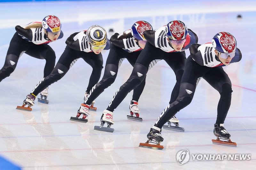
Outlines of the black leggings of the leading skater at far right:
{"type": "Polygon", "coordinates": [[[155,124],[156,127],[162,128],[171,117],[191,103],[196,90],[196,84],[199,82],[200,77],[203,77],[204,80],[220,93],[216,124],[224,123],[230,107],[232,93],[231,81],[228,75],[222,67],[200,66],[189,56],[181,79],[179,96],[158,117],[155,124]]]}

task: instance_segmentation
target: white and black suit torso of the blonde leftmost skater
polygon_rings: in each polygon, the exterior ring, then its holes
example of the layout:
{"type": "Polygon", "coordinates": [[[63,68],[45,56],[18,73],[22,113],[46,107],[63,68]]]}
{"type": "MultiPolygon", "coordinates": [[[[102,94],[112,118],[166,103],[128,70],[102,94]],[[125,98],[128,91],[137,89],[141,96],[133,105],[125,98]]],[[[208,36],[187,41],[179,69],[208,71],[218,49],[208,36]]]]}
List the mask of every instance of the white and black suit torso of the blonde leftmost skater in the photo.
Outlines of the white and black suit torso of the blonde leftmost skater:
{"type": "MultiPolygon", "coordinates": [[[[31,25],[34,23],[41,23],[41,22],[32,22],[32,23],[29,23],[28,25],[31,25]]],[[[17,25],[15,27],[15,30],[22,39],[36,45],[48,44],[52,42],[50,39],[47,38],[46,31],[44,30],[43,27],[24,29],[23,27],[17,25]]],[[[63,32],[61,31],[58,39],[61,39],[62,37],[63,37],[63,32]]]]}

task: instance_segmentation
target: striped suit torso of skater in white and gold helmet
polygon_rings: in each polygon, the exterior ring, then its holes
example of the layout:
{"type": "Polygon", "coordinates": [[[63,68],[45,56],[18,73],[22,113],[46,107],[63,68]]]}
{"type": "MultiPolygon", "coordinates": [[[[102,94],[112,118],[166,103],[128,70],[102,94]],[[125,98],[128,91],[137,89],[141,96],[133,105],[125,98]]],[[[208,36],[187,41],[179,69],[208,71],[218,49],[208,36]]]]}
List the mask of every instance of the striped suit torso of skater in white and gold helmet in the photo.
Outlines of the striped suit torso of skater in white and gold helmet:
{"type": "MultiPolygon", "coordinates": [[[[66,40],[66,44],[73,50],[91,53],[91,45],[86,37],[86,31],[75,32],[71,34],[66,40]]],[[[110,41],[107,40],[107,45],[104,50],[108,50],[110,47],[110,41]]]]}

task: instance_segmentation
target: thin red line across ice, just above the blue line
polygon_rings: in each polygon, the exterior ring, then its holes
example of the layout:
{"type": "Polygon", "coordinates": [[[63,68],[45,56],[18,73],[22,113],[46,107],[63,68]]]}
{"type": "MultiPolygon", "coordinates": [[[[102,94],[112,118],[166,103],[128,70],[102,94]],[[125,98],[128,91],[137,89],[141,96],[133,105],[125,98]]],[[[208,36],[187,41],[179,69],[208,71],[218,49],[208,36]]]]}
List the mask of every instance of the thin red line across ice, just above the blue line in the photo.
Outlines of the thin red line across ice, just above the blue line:
{"type": "MultiPolygon", "coordinates": [[[[159,114],[160,115],[160,114],[159,114]]],[[[226,119],[228,118],[254,118],[256,116],[248,116],[248,117],[226,117],[226,119]]],[[[216,119],[216,117],[204,117],[204,118],[179,118],[179,120],[187,120],[187,119],[216,119]]],[[[130,120],[115,120],[115,122],[131,122],[130,120]]],[[[145,120],[143,119],[143,121],[156,121],[156,119],[151,119],[151,120],[145,120]]],[[[94,122],[91,122],[90,119],[89,121],[87,122],[88,123],[99,123],[100,121],[94,121],[94,122]]],[[[68,123],[74,123],[76,124],[77,122],[49,122],[49,123],[17,123],[17,124],[0,124],[1,125],[21,125],[21,124],[27,124],[27,125],[30,125],[30,124],[68,124],[68,123]]],[[[79,123],[79,122],[78,122],[79,123]]]]}

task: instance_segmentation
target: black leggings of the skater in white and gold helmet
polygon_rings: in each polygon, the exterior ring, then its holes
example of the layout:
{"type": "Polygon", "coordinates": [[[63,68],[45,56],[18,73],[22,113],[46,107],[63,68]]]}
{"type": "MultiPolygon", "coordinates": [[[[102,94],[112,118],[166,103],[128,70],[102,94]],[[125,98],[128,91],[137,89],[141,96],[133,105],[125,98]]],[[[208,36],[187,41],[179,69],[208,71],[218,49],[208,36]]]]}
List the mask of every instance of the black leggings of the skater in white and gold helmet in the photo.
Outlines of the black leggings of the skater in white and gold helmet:
{"type": "Polygon", "coordinates": [[[84,61],[92,67],[92,74],[89,80],[87,90],[92,89],[92,87],[100,80],[100,74],[103,68],[102,54],[76,51],[66,46],[65,51],[60,56],[60,59],[52,70],[52,73],[39,81],[39,83],[36,85],[35,89],[33,89],[31,93],[37,96],[46,87],[60,80],[79,58],[83,58],[84,61]]]}

